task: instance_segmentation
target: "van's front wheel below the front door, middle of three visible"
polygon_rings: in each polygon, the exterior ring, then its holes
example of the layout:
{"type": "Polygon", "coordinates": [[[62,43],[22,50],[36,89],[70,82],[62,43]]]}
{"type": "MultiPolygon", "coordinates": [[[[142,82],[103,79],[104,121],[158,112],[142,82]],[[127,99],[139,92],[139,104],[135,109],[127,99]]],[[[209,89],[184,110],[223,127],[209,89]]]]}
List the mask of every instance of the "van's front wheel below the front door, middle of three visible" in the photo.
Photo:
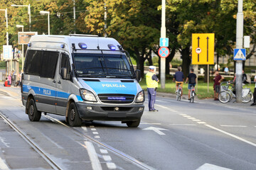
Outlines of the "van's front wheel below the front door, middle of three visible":
{"type": "Polygon", "coordinates": [[[78,108],[75,106],[75,103],[70,103],[68,108],[68,124],[72,127],[82,125],[82,119],[79,117],[78,108]]]}

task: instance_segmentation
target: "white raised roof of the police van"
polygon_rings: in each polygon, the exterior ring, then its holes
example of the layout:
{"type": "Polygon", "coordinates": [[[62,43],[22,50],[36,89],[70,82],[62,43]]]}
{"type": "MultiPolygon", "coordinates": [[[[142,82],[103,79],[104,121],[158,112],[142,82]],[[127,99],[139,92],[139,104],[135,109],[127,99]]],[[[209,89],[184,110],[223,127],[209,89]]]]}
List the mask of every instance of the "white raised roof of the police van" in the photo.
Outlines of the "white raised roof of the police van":
{"type": "Polygon", "coordinates": [[[31,47],[28,48],[50,48],[70,50],[72,44],[75,49],[81,49],[79,43],[85,44],[87,50],[111,50],[110,46],[114,46],[119,50],[119,42],[114,38],[97,37],[97,35],[33,35],[29,41],[31,47]],[[60,47],[64,45],[64,47],[60,47]]]}

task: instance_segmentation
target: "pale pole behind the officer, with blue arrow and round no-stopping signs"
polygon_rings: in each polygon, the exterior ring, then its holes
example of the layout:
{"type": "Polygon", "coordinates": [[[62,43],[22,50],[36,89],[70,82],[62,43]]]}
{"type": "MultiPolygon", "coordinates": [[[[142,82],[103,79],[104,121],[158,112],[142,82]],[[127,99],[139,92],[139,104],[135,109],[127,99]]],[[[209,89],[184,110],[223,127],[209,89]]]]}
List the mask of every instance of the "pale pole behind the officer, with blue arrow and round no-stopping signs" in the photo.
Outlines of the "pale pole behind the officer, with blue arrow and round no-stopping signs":
{"type": "MultiPolygon", "coordinates": [[[[162,0],[161,8],[161,38],[166,38],[166,0],[162,0]]],[[[166,58],[160,58],[161,63],[161,89],[165,89],[165,72],[166,72],[166,58]]]]}

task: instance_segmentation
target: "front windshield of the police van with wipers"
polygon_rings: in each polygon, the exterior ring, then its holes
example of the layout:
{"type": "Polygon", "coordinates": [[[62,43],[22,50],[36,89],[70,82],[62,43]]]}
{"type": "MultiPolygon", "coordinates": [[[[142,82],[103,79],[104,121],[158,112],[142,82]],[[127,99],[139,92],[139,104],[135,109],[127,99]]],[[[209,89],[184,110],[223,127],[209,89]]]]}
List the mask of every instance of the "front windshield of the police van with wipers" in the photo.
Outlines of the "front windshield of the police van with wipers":
{"type": "Polygon", "coordinates": [[[134,78],[134,69],[124,52],[74,53],[77,77],[134,78]]]}

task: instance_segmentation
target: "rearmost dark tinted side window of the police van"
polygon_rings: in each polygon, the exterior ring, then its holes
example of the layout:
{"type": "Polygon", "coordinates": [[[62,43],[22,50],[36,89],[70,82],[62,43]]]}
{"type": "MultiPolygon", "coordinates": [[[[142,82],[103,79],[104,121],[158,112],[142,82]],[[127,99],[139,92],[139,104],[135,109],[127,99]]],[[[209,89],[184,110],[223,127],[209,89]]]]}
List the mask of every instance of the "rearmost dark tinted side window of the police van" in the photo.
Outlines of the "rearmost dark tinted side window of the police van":
{"type": "Polygon", "coordinates": [[[24,72],[26,74],[39,74],[42,62],[41,50],[28,50],[24,72]]]}

